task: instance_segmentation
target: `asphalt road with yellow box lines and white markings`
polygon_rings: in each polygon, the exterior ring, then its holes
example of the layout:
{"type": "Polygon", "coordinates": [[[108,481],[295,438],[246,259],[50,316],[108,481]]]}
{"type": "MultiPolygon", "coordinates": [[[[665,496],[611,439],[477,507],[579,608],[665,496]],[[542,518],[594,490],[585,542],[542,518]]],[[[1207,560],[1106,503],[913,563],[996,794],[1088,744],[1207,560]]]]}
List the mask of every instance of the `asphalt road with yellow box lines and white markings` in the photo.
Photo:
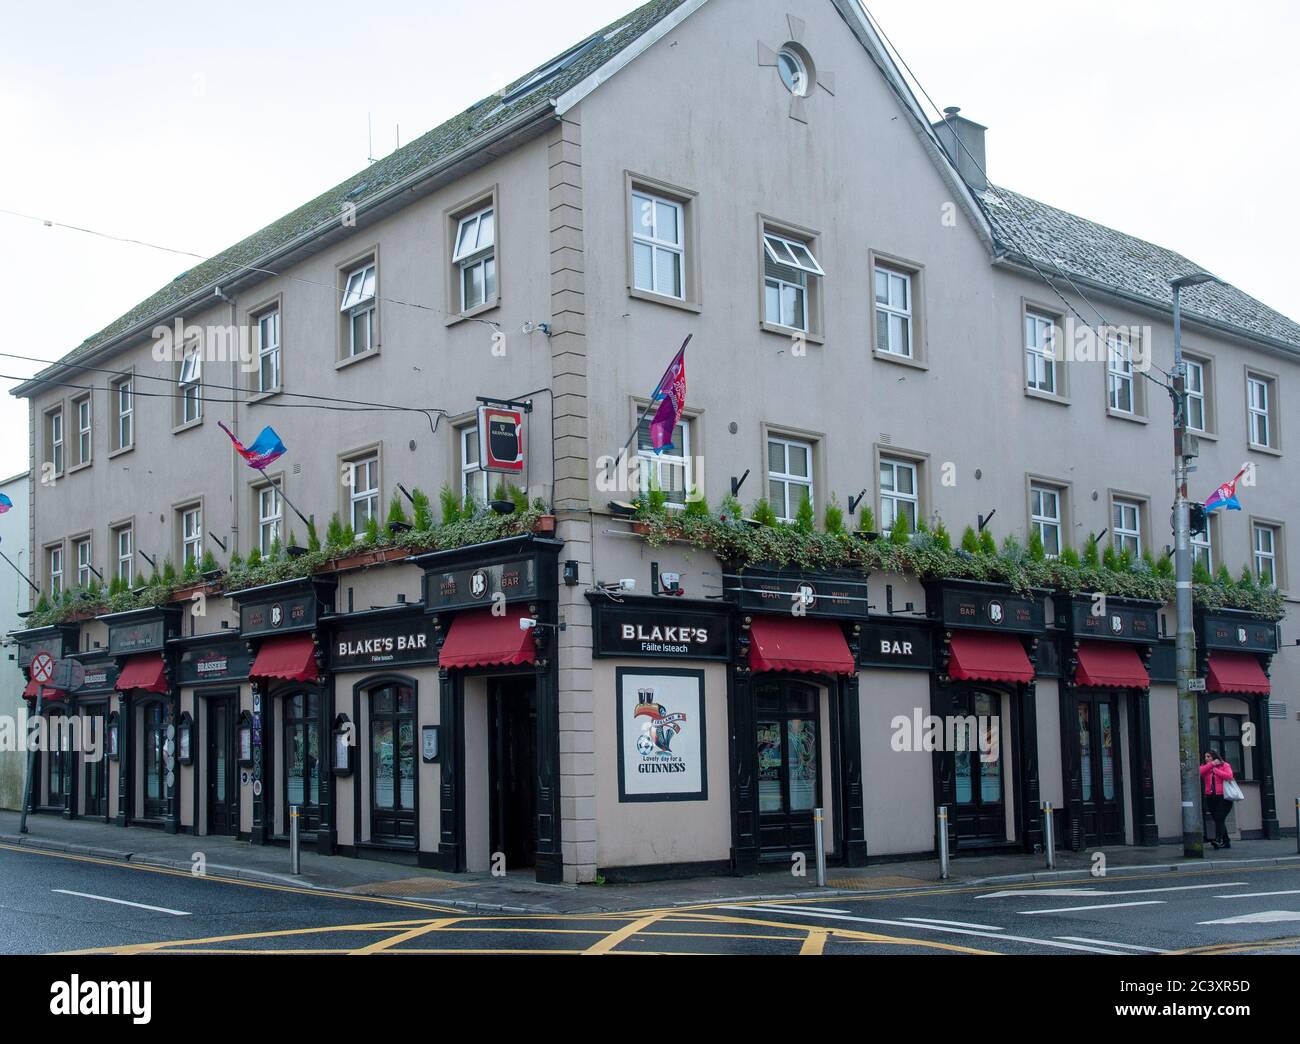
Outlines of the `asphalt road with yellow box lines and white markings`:
{"type": "Polygon", "coordinates": [[[1300,866],[480,914],[0,845],[0,953],[1300,953],[1300,866]]]}

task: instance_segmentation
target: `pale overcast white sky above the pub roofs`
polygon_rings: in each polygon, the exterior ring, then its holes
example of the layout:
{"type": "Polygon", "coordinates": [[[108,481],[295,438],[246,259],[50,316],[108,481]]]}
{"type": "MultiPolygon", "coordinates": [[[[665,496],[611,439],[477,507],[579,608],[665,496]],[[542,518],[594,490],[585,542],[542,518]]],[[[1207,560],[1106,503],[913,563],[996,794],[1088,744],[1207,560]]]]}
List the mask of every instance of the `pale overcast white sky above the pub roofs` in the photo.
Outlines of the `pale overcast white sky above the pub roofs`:
{"type": "MultiPolygon", "coordinates": [[[[989,127],[994,182],[1300,320],[1294,0],[867,5],[935,104],[989,127]]],[[[632,7],[0,0],[0,352],[56,359],[194,264],[3,211],[208,256],[632,7]]],[[[0,477],[27,467],[8,391],[39,368],[0,355],[0,477]]]]}

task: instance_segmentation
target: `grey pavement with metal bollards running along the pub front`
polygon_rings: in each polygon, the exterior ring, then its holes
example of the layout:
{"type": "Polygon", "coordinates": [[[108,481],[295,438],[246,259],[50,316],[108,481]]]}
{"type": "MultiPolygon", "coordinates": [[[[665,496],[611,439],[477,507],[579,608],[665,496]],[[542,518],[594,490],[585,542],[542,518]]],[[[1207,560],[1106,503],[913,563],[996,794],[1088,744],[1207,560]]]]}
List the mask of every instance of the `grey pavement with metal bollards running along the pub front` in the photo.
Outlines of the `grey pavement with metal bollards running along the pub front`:
{"type": "MultiPolygon", "coordinates": [[[[302,875],[289,872],[289,850],[276,845],[250,845],[233,837],[191,837],[144,827],[108,826],[52,815],[27,819],[30,833],[18,833],[18,814],[0,810],[0,842],[129,861],[148,866],[192,870],[195,853],[213,876],[277,884],[347,891],[368,896],[429,900],[472,910],[507,913],[602,913],[734,898],[807,898],[812,894],[940,885],[937,859],[872,863],[862,867],[827,867],[827,888],[788,871],[748,876],[706,876],[644,884],[567,885],[538,884],[532,872],[493,878],[488,874],[442,874],[415,866],[317,855],[304,849],[302,875]]],[[[1183,859],[1180,845],[1108,848],[1057,854],[1057,870],[1048,871],[1041,855],[1023,853],[954,858],[946,885],[1078,879],[1089,876],[1092,859],[1104,852],[1110,875],[1126,872],[1178,872],[1243,863],[1300,862],[1294,837],[1273,841],[1238,841],[1228,852],[1206,848],[1206,858],[1183,859]]]]}

